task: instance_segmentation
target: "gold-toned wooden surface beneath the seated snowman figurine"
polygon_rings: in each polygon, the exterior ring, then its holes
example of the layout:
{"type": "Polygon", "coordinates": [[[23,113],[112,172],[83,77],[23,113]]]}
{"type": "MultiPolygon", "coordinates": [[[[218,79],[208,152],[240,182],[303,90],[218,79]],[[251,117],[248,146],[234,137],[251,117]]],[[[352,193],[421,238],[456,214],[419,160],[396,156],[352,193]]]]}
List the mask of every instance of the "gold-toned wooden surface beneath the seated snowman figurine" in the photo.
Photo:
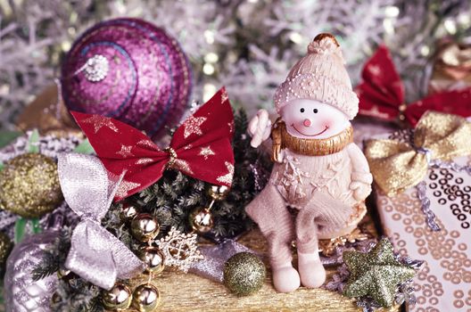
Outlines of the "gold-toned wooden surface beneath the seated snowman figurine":
{"type": "MultiPolygon", "coordinates": [[[[366,223],[368,231],[376,234],[368,216],[366,223]]],[[[245,234],[238,242],[260,253],[267,248],[267,242],[259,230],[245,234]]],[[[269,267],[267,268],[269,273],[269,267]]],[[[335,268],[328,268],[327,280],[334,273],[335,268]]],[[[270,274],[260,291],[240,298],[227,291],[223,284],[168,269],[156,277],[153,283],[161,291],[159,311],[361,311],[354,300],[332,291],[301,287],[292,293],[277,293],[272,286],[270,274]]],[[[382,311],[399,311],[399,308],[382,311]]]]}

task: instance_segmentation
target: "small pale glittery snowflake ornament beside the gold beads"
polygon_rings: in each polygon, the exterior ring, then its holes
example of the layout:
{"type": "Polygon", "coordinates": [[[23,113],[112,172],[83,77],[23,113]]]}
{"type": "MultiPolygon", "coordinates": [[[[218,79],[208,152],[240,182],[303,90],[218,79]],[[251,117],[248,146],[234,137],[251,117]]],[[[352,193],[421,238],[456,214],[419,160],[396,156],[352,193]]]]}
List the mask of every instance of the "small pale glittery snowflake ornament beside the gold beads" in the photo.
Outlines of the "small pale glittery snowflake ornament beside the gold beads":
{"type": "Polygon", "coordinates": [[[157,242],[165,256],[165,265],[187,273],[193,262],[203,259],[196,237],[196,234],[185,234],[172,227],[169,234],[157,242]]]}

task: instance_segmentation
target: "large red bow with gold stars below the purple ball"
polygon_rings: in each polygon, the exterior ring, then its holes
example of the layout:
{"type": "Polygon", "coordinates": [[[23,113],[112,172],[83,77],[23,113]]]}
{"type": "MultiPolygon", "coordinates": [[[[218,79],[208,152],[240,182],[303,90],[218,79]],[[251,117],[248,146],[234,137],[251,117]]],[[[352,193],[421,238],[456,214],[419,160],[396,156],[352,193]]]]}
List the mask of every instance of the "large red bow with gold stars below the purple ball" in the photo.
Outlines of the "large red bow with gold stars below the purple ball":
{"type": "Polygon", "coordinates": [[[103,165],[125,175],[116,193],[120,201],[158,181],[165,168],[175,168],[212,185],[232,184],[234,116],[225,88],[177,128],[161,150],[134,127],[116,119],[72,111],[103,165]]]}

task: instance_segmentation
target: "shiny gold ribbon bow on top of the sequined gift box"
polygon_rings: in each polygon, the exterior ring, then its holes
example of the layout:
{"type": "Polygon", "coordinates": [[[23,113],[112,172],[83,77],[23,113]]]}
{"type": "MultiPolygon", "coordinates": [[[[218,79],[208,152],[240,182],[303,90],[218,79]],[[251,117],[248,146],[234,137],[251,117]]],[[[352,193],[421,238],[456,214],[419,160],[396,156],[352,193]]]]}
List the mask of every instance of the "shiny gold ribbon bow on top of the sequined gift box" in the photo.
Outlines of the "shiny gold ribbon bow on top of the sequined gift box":
{"type": "Polygon", "coordinates": [[[434,160],[471,154],[471,122],[456,115],[427,111],[412,143],[369,140],[365,155],[376,185],[392,196],[418,185],[434,160]]]}

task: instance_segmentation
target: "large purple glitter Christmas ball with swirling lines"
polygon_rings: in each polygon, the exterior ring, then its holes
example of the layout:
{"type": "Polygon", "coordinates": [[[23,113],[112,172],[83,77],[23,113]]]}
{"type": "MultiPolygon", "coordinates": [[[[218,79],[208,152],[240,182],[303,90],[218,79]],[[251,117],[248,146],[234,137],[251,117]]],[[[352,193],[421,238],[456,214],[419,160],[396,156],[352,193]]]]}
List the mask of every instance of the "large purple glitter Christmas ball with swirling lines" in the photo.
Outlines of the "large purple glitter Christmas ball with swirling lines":
{"type": "Polygon", "coordinates": [[[175,126],[191,93],[191,69],[180,45],[137,19],[103,21],[72,45],[62,64],[70,111],[119,119],[158,138],[175,126]]]}

